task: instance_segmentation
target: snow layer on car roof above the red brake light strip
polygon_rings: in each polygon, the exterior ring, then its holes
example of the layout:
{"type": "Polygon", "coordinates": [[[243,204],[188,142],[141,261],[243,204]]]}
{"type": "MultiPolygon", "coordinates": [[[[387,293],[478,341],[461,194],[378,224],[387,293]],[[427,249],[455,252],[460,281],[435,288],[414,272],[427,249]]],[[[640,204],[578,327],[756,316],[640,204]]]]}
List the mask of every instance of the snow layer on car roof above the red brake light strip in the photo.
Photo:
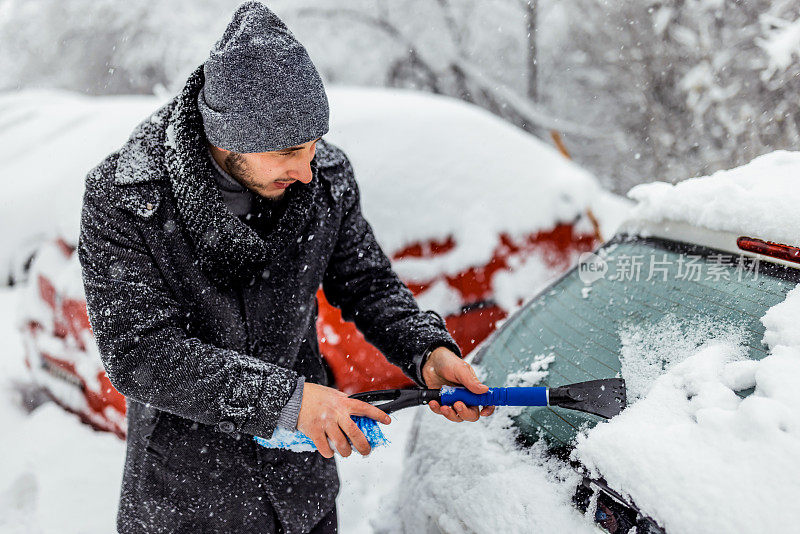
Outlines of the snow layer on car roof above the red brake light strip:
{"type": "Polygon", "coordinates": [[[676,185],[637,185],[631,217],[692,225],[800,245],[800,152],[776,151],[747,165],[676,185]]]}

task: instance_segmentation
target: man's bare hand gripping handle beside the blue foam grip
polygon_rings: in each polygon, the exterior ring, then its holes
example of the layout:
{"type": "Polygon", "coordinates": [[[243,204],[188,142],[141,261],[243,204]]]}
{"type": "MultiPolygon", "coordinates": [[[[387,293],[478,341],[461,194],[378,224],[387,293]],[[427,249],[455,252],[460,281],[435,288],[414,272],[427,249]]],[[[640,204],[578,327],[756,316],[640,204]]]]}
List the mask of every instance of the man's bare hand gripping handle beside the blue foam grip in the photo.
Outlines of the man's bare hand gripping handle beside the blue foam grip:
{"type": "MultiPolygon", "coordinates": [[[[475,375],[475,370],[470,364],[458,357],[453,351],[439,347],[431,352],[428,360],[422,366],[422,378],[425,385],[432,389],[442,386],[463,386],[472,393],[480,395],[489,391],[489,387],[482,384],[475,375]]],[[[458,401],[453,406],[441,406],[436,401],[428,403],[433,413],[438,413],[455,423],[462,421],[477,421],[480,416],[491,415],[494,406],[466,406],[458,401]]]]}

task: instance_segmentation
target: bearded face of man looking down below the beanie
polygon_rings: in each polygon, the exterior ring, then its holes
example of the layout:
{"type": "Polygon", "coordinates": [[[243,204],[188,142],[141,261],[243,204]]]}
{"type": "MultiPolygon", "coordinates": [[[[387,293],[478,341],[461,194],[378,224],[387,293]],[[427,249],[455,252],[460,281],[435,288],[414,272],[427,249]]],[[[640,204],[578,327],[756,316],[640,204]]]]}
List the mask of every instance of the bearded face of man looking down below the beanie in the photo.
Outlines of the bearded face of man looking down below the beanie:
{"type": "Polygon", "coordinates": [[[254,193],[277,200],[294,182],[311,181],[311,160],[318,139],[275,152],[239,153],[210,145],[217,163],[254,193]]]}

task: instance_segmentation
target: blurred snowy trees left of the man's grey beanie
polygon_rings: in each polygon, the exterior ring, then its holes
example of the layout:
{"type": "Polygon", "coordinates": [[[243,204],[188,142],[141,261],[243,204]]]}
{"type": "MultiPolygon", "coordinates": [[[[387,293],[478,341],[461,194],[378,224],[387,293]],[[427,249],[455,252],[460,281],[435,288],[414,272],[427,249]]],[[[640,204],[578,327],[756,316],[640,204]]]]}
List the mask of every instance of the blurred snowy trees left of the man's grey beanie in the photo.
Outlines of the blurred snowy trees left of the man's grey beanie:
{"type": "Polygon", "coordinates": [[[237,0],[0,0],[0,89],[152,93],[185,80],[237,0]]]}

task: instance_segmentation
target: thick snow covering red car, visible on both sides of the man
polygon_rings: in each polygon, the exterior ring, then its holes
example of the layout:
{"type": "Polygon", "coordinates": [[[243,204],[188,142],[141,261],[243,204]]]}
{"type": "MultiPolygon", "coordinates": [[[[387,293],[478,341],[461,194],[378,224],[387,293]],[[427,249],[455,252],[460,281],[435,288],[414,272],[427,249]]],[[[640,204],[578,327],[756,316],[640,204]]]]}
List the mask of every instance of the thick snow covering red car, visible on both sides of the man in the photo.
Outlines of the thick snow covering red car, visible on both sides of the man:
{"type": "MultiPolygon", "coordinates": [[[[601,193],[554,149],[480,108],[413,91],[334,87],[330,133],[351,158],[364,211],[387,251],[455,238],[448,267],[491,258],[500,232],[571,222],[601,193]]],[[[0,95],[0,274],[13,254],[76,240],[86,173],[163,98],[54,90],[0,95]]]]}

